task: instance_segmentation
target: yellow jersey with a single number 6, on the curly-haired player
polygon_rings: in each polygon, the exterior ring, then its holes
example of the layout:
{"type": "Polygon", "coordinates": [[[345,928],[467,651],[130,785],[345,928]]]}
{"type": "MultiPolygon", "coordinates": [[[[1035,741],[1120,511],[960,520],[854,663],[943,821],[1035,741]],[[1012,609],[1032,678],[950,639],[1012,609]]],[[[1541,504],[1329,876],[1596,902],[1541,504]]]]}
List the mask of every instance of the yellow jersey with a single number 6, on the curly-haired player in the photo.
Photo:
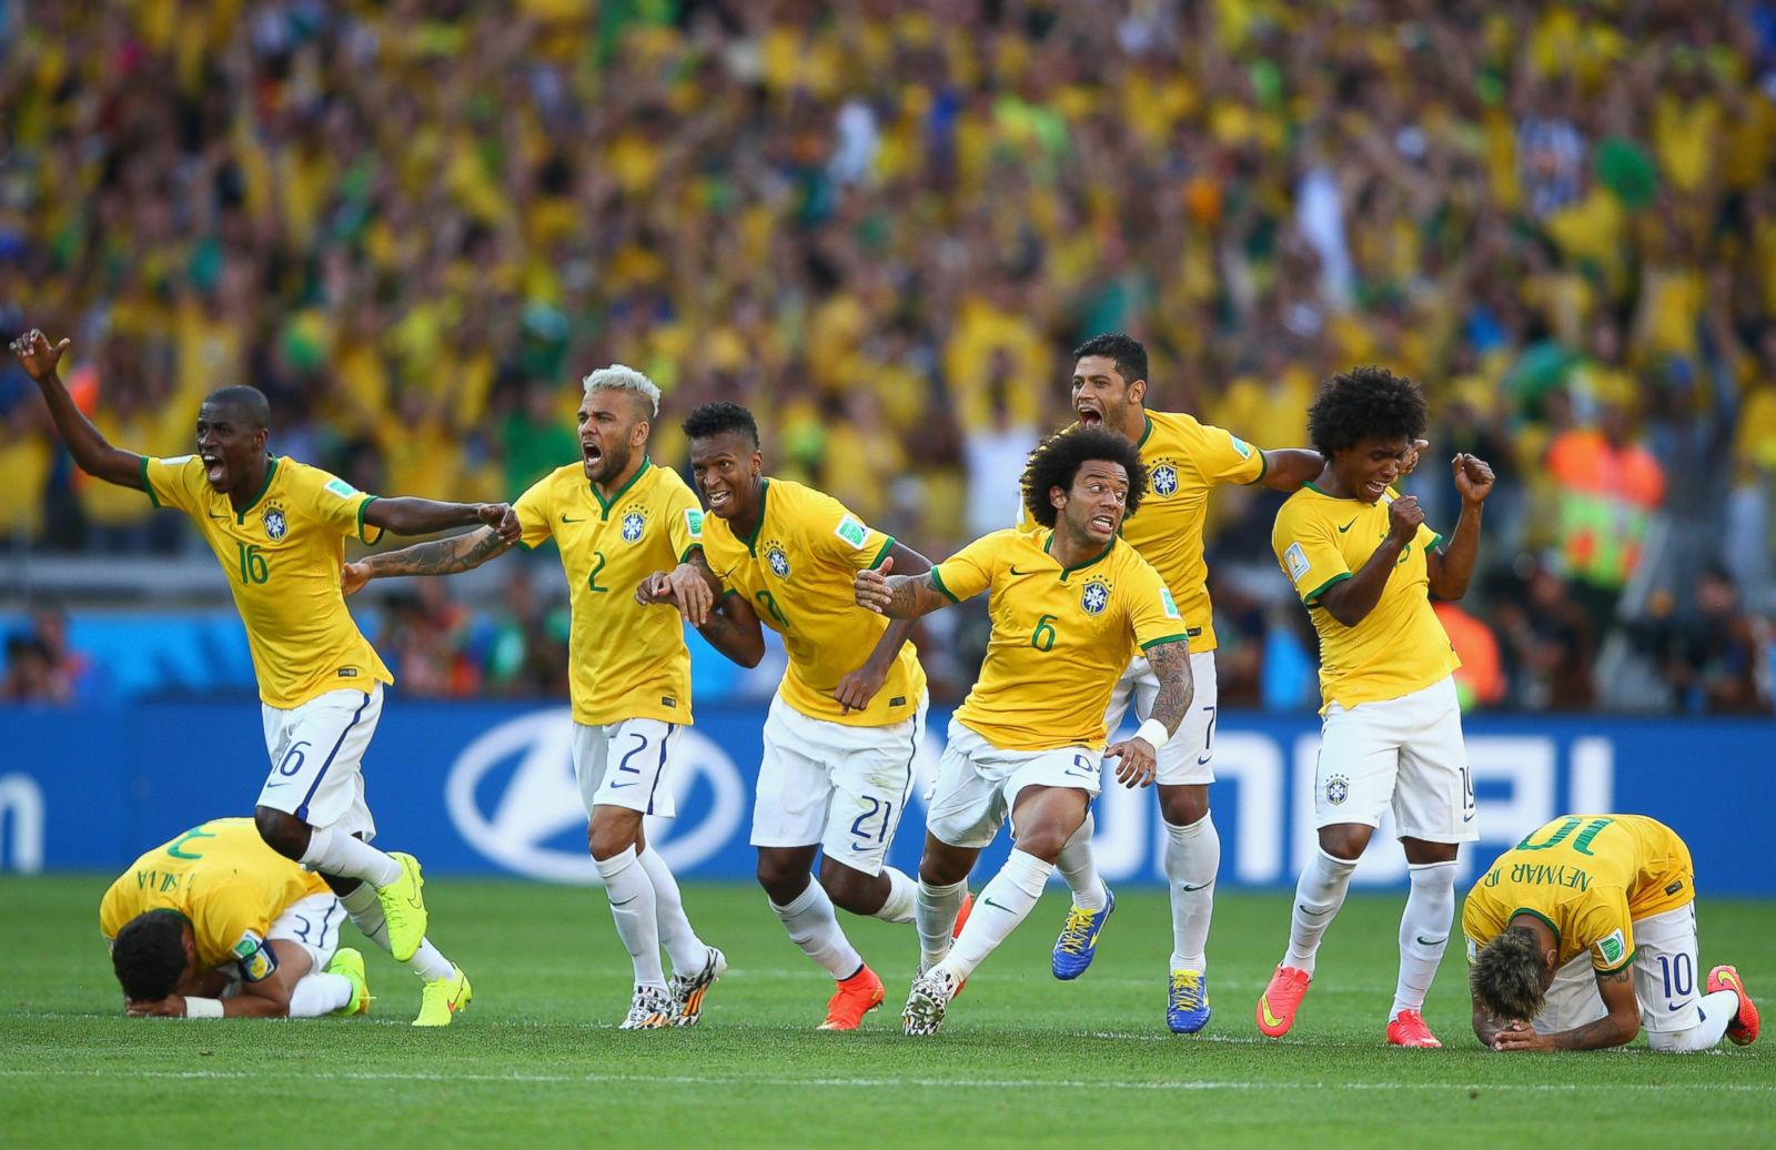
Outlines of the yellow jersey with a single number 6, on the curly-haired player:
{"type": "Polygon", "coordinates": [[[987,593],[993,634],[955,719],[1002,751],[1103,747],[1105,706],[1135,651],[1188,641],[1153,564],[1124,540],[1062,568],[1055,532],[995,531],[931,568],[957,603],[987,593]]]}

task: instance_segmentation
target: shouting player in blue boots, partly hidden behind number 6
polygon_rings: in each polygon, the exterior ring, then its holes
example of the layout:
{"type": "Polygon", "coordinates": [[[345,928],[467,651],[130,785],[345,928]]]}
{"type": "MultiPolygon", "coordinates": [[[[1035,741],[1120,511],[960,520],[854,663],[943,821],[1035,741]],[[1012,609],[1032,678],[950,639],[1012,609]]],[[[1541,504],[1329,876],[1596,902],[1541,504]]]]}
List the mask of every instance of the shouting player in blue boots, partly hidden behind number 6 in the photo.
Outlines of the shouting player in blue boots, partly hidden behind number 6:
{"type": "MultiPolygon", "coordinates": [[[[1146,511],[1122,538],[1165,579],[1190,637],[1190,678],[1195,697],[1177,735],[1165,744],[1156,774],[1165,822],[1165,877],[1172,896],[1172,958],[1165,1024],[1179,1035],[1208,1026],[1208,937],[1220,870],[1220,836],[1209,816],[1209,765],[1215,740],[1215,619],[1208,568],[1202,563],[1202,522],[1209,492],[1229,483],[1263,483],[1296,492],[1320,474],[1316,451],[1257,451],[1240,437],[1197,422],[1183,412],[1153,412],[1147,399],[1147,350],[1130,335],[1098,335],[1073,353],[1073,410],[1080,424],[1117,431],[1140,449],[1147,469],[1146,511]]],[[[1130,705],[1135,717],[1153,715],[1160,680],[1137,653],[1110,692],[1105,728],[1115,731],[1130,705]]],[[[1073,907],[1055,942],[1055,978],[1078,978],[1090,965],[1098,932],[1114,900],[1098,878],[1090,854],[1092,820],[1060,855],[1058,870],[1073,887],[1073,907]]]]}

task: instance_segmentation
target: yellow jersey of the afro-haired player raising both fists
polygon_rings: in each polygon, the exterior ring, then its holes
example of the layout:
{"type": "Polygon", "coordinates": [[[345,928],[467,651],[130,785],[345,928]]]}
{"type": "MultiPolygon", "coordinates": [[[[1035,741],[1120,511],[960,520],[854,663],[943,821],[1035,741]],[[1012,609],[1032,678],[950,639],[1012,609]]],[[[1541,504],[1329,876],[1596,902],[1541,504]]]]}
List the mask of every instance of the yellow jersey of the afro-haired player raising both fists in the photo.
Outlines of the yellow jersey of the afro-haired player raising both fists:
{"type": "Polygon", "coordinates": [[[1399,552],[1375,610],[1357,626],[1344,626],[1320,605],[1325,589],[1362,570],[1387,538],[1387,508],[1396,497],[1389,488],[1366,504],[1334,499],[1309,483],[1277,511],[1270,547],[1320,632],[1320,694],[1327,706],[1348,710],[1398,699],[1462,666],[1431,610],[1428,554],[1442,536],[1424,524],[1399,552]]]}

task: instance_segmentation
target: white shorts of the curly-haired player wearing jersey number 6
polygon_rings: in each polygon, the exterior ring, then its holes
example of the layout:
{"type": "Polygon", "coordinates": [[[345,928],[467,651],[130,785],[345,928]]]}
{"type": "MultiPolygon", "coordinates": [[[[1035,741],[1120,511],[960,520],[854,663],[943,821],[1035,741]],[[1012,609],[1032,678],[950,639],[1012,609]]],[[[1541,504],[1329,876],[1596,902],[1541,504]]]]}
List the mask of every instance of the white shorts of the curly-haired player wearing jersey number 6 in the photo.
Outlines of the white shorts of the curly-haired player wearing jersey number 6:
{"type": "Polygon", "coordinates": [[[1066,786],[1098,797],[1103,751],[1003,751],[950,719],[948,745],[931,784],[925,829],[940,843],[979,850],[993,841],[1025,786],[1066,786]]]}

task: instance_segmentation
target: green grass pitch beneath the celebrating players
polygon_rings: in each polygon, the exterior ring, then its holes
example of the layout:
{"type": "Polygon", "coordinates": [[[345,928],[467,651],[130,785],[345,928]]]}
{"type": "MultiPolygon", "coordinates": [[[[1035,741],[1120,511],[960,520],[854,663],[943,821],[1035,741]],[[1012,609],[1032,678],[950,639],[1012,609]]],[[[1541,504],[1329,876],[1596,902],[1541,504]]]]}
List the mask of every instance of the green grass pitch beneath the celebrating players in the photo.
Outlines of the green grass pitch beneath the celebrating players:
{"type": "MultiPolygon", "coordinates": [[[[845,919],[888,1001],[863,1031],[826,1035],[813,1026],[831,983],[764,894],[691,886],[693,919],[732,969],[702,1026],[618,1031],[629,964],[599,891],[446,877],[426,884],[432,937],[474,981],[472,1008],[446,1031],[408,1026],[419,983],[382,953],[366,953],[369,1019],[123,1019],[98,937],[103,887],[0,878],[12,930],[0,953],[0,1145],[1776,1145],[1771,1036],[1693,1056],[1645,1040],[1488,1054],[1467,1026],[1455,946],[1426,1006],[1451,1049],[1389,1049],[1399,896],[1350,900],[1282,1042],[1257,1035],[1252,1008],[1284,942],[1288,894],[1218,900],[1215,1020],[1181,1038],[1163,1024],[1163,894],[1133,889],[1076,983],[1048,974],[1066,912],[1050,891],[945,1029],[915,1040],[899,1028],[911,928],[845,919]]],[[[1737,962],[1753,994],[1771,994],[1772,918],[1769,903],[1705,903],[1703,967],[1737,962]]]]}

